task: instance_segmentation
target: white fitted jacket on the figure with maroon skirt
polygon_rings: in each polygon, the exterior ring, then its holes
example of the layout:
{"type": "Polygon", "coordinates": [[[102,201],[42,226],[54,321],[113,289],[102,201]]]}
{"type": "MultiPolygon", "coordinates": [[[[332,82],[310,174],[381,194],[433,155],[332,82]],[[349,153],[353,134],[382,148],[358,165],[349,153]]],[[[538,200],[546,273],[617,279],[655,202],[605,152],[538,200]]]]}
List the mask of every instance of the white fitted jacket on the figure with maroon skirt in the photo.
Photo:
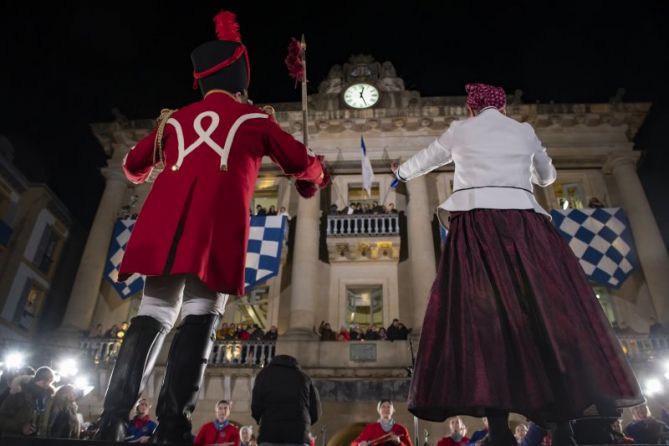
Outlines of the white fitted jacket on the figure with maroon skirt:
{"type": "Polygon", "coordinates": [[[455,162],[453,193],[440,208],[533,209],[550,217],[534,198],[532,183],[548,186],[557,173],[531,125],[495,108],[454,121],[427,148],[402,163],[397,177],[409,181],[451,161],[455,162]]]}

